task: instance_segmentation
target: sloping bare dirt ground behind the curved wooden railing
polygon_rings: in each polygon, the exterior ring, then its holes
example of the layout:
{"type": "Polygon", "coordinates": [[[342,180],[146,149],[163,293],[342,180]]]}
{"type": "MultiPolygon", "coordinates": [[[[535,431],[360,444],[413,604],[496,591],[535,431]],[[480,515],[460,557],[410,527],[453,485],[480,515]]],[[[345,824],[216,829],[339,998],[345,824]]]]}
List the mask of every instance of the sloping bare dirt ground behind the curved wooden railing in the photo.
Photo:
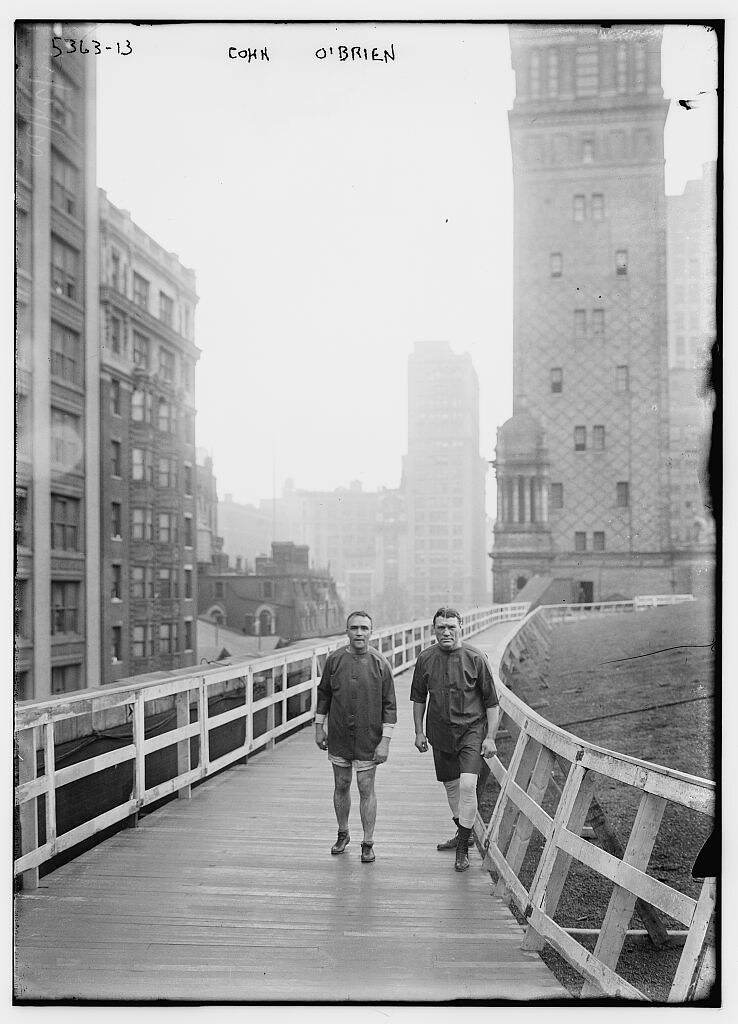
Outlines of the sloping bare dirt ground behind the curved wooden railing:
{"type": "MultiPolygon", "coordinates": [[[[558,626],[553,631],[545,678],[526,672],[523,665],[516,677],[515,692],[549,721],[581,739],[691,775],[713,778],[713,637],[712,608],[706,601],[558,626]]],[[[507,765],[514,743],[503,735],[497,745],[501,760],[507,765]]],[[[480,800],[484,820],[491,814],[497,793],[497,784],[490,778],[480,800]]],[[[598,784],[597,800],[622,847],[639,798],[635,791],[604,777],[598,784]]],[[[544,801],[549,813],[555,810],[557,800],[558,794],[550,786],[544,801]]],[[[649,873],[696,898],[701,882],[692,878],[692,866],[710,829],[711,822],[704,815],[669,806],[649,873]]],[[[534,833],[520,871],[526,888],[541,849],[542,839],[534,833]]],[[[572,861],[557,923],[564,928],[599,928],[611,892],[607,880],[572,861]]],[[[684,928],[665,915],[662,920],[668,929],[684,928]]],[[[630,927],[644,928],[637,913],[630,927]]],[[[594,949],[596,936],[576,938],[594,949]]],[[[681,946],[657,950],[647,938],[628,937],[617,971],[649,998],[662,1001],[667,997],[680,954],[681,946]]],[[[578,995],[581,977],[551,947],[547,946],[541,956],[561,983],[578,995]]]]}

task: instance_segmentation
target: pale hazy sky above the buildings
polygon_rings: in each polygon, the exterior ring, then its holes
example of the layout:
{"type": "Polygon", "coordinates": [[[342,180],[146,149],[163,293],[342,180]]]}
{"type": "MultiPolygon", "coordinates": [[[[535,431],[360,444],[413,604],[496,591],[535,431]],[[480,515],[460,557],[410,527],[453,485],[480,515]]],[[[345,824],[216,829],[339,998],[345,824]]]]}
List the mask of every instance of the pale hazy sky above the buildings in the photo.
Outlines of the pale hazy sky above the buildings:
{"type": "MultiPolygon", "coordinates": [[[[197,272],[198,443],[221,498],[256,502],[287,477],[396,486],[418,340],[471,353],[493,458],[512,413],[507,29],[104,32],[133,52],[97,63],[98,183],[197,272]],[[340,44],[396,58],[316,58],[340,44]]],[[[715,67],[703,30],[666,28],[665,93],[698,98],[671,104],[667,193],[715,157],[715,67]]],[[[491,511],[491,472],[487,489],[491,511]]]]}

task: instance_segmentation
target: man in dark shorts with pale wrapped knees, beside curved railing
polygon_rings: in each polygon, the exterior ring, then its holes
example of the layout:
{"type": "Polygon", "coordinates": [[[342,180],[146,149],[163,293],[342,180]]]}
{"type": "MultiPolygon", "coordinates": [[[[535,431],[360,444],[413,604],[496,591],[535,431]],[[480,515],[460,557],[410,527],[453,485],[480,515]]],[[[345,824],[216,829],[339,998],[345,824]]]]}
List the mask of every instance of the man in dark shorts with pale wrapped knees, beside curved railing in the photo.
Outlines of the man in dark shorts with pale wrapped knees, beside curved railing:
{"type": "Polygon", "coordinates": [[[439,608],[433,616],[433,630],[437,643],[419,654],[410,686],[416,746],[421,754],[429,743],[433,748],[436,778],[445,787],[457,824],[457,835],[439,843],[438,849],[455,849],[453,866],[465,871],[482,758],[493,757],[497,750],[494,734],[500,705],[486,657],[462,642],[462,616],[455,608],[439,608]]]}

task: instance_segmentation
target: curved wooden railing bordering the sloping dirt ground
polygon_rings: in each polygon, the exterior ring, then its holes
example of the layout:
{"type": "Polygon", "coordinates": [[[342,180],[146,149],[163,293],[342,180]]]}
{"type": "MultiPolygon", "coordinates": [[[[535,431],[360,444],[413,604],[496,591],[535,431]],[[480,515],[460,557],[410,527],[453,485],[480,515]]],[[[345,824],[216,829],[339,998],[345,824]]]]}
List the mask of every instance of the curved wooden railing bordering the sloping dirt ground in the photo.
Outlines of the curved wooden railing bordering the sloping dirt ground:
{"type": "MultiPolygon", "coordinates": [[[[659,602],[657,599],[650,604],[659,602]]],[[[571,610],[568,608],[567,613],[571,610]]],[[[591,607],[590,613],[593,610],[591,607]]],[[[610,605],[599,606],[598,610],[615,609],[610,605]]],[[[515,748],[507,768],[497,757],[487,762],[501,791],[489,821],[485,824],[477,817],[476,837],[487,866],[497,874],[497,894],[514,899],[528,921],[524,947],[541,949],[549,942],[583,976],[582,997],[604,993],[646,999],[616,970],[638,900],[687,929],[668,999],[678,1002],[695,998],[701,994],[706,973],[703,968],[709,963],[709,957],[704,958],[705,936],[715,902],[715,880],[705,879],[699,897],[692,899],[648,874],[647,867],[666,808],[676,805],[711,818],[714,782],[578,739],[537,715],[505,685],[513,678],[517,657],[533,662],[540,657],[540,648],[549,642],[556,621],[562,621],[560,606],[533,611],[522,626],[511,630],[498,664],[493,666],[503,680],[502,726],[515,740],[515,748]],[[556,775],[563,784],[558,783],[556,775]],[[598,779],[620,783],[639,795],[638,811],[621,857],[600,849],[581,835],[598,779]],[[556,802],[553,813],[544,806],[547,794],[547,807],[551,809],[556,802]],[[532,880],[526,885],[521,880],[521,867],[534,830],[542,837],[542,849],[532,880]],[[594,952],[574,938],[573,930],[555,920],[572,860],[614,886],[594,952]]]]}

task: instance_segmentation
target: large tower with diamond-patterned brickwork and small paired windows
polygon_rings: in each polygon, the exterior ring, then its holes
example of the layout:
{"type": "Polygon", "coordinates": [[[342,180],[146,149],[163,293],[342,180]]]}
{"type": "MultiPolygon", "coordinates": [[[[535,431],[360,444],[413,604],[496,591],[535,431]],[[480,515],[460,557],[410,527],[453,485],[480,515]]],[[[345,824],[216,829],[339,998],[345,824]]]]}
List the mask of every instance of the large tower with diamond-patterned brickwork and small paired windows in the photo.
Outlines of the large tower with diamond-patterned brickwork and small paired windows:
{"type": "Polygon", "coordinates": [[[669,509],[661,30],[510,37],[514,407],[493,597],[532,575],[574,600],[688,589],[669,509]]]}

